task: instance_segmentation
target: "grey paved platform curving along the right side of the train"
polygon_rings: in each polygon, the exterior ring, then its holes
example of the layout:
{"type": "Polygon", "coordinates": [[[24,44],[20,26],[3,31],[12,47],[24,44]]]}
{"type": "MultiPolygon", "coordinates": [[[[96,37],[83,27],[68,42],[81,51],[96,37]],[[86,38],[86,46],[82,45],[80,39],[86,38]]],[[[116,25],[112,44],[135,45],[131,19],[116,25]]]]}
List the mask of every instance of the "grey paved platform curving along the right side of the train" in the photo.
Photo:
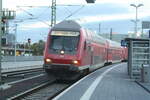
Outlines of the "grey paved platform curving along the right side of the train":
{"type": "Polygon", "coordinates": [[[53,100],[150,100],[150,93],[127,75],[127,64],[101,68],[53,100]]]}

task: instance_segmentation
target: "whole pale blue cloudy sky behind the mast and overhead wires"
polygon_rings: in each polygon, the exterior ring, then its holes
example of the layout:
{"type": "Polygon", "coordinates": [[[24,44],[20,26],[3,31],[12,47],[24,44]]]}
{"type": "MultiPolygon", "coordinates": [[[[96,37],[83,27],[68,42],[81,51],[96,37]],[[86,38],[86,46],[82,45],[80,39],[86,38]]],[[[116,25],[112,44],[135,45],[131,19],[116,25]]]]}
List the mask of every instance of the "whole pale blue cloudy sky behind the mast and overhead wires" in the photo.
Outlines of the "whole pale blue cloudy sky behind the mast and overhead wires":
{"type": "MultiPolygon", "coordinates": [[[[127,34],[134,31],[131,20],[135,19],[135,8],[130,4],[144,5],[138,8],[140,31],[141,22],[150,20],[150,0],[96,0],[94,4],[87,4],[85,0],[57,0],[57,23],[67,18],[96,32],[99,32],[100,24],[101,34],[109,33],[110,28],[116,34],[127,34]]],[[[10,33],[14,33],[17,23],[18,42],[25,42],[28,38],[33,42],[46,40],[51,21],[50,6],[51,0],[3,0],[3,8],[17,12],[16,19],[10,21],[10,33]]]]}

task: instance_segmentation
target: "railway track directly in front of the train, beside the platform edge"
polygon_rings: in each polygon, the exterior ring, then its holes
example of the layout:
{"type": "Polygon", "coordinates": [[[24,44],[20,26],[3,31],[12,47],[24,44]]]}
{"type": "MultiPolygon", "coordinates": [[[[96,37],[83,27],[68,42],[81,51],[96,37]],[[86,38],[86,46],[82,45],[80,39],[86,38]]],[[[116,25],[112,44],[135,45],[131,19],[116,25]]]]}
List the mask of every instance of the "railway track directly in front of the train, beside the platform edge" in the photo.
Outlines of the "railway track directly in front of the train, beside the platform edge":
{"type": "Polygon", "coordinates": [[[47,82],[23,93],[20,93],[10,100],[48,100],[55,97],[64,89],[69,87],[70,83],[58,83],[56,80],[47,82]]]}

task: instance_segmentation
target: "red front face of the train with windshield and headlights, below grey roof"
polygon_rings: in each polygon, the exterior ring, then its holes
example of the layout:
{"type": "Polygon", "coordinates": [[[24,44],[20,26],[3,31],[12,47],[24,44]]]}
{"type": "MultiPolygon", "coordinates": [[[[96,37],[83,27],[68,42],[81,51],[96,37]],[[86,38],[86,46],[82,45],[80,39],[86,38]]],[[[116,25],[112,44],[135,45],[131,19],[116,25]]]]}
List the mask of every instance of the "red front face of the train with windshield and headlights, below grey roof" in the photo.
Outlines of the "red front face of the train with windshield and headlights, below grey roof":
{"type": "Polygon", "coordinates": [[[80,31],[51,30],[44,52],[44,69],[56,78],[75,78],[81,65],[80,31]]]}

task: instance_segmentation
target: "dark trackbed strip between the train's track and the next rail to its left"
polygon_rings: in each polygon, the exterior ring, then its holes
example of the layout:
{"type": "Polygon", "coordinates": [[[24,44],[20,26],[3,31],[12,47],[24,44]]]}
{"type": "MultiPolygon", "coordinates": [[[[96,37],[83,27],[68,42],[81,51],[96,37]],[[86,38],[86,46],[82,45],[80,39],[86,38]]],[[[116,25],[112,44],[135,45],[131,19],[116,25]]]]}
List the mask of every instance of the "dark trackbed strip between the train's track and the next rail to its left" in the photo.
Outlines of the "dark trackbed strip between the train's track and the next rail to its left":
{"type": "MultiPolygon", "coordinates": [[[[47,77],[46,74],[39,74],[36,76],[28,77],[25,79],[12,81],[5,83],[9,85],[9,88],[0,90],[0,100],[7,100],[8,98],[14,97],[20,93],[23,93],[31,88],[40,86],[47,82],[54,81],[54,78],[47,77]]],[[[5,86],[4,84],[4,86],[5,86]]]]}

